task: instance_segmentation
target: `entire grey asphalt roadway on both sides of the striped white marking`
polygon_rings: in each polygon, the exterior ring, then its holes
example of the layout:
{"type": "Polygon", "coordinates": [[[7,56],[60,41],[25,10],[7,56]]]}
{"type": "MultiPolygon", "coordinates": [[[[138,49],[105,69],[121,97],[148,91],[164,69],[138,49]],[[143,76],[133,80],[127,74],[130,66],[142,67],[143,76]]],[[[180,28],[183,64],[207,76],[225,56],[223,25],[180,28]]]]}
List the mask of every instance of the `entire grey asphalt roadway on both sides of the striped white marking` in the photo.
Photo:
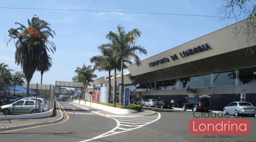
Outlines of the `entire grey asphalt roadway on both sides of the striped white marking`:
{"type": "MultiPolygon", "coordinates": [[[[204,112],[192,112],[192,111],[179,111],[174,109],[161,109],[161,108],[149,108],[143,107],[143,109],[149,109],[160,113],[153,116],[146,116],[143,118],[108,118],[105,116],[89,115],[88,111],[82,108],[77,108],[72,104],[62,103],[65,111],[67,111],[69,120],[64,122],[48,125],[38,128],[31,128],[25,130],[19,130],[14,132],[0,133],[1,142],[9,141],[21,141],[21,142],[80,142],[89,140],[93,137],[97,137],[103,133],[109,132],[118,123],[123,126],[116,129],[106,137],[99,137],[93,142],[252,142],[255,141],[256,134],[256,117],[246,117],[240,119],[248,119],[250,121],[250,132],[246,135],[246,138],[234,138],[237,135],[221,135],[229,136],[229,138],[196,138],[196,136],[211,136],[211,135],[194,135],[189,132],[189,121],[195,119],[195,116],[201,116],[204,112]],[[75,109],[75,110],[74,110],[75,109]],[[79,114],[80,113],[80,114],[79,114]],[[84,114],[82,114],[84,113],[84,114]],[[160,118],[159,120],[156,118],[160,118]],[[154,120],[154,121],[153,121],[154,120]],[[151,121],[146,125],[135,123],[146,123],[145,121],[151,121]],[[130,123],[133,122],[133,123],[130,123]],[[132,127],[134,125],[134,127],[132,127]],[[136,127],[135,127],[136,126],[136,127]],[[131,128],[131,130],[128,130],[131,128]],[[128,131],[127,131],[128,130],[128,131]],[[121,132],[123,131],[123,132],[121,132]],[[233,137],[233,138],[231,138],[233,137]]],[[[235,118],[230,115],[232,119],[235,118]]],[[[202,118],[199,118],[202,119],[202,118]]],[[[203,118],[210,119],[210,118],[203,118]]],[[[216,136],[216,135],[215,135],[216,136]]]]}

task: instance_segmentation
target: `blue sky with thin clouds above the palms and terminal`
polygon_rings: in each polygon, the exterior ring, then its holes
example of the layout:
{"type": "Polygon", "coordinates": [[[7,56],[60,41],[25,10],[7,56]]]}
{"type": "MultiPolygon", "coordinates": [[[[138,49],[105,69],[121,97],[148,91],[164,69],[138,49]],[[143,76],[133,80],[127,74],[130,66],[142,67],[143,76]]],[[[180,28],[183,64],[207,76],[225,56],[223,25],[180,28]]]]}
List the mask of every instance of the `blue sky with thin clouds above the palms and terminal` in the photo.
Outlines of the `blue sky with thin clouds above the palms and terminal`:
{"type": "MultiPolygon", "coordinates": [[[[0,7],[219,16],[217,12],[222,5],[222,0],[94,1],[0,0],[0,7]]],[[[53,65],[50,71],[43,74],[43,84],[53,85],[55,80],[71,81],[76,75],[74,70],[83,63],[93,65],[89,63],[89,58],[99,54],[97,47],[109,42],[105,36],[109,31],[116,32],[118,24],[122,24],[126,32],[138,28],[143,33],[137,44],[145,47],[148,55],[142,55],[142,60],[227,26],[227,21],[220,22],[218,17],[117,12],[0,8],[0,62],[17,71],[22,70],[14,62],[14,42],[10,42],[6,47],[7,41],[4,39],[8,36],[10,28],[18,27],[15,22],[27,26],[27,19],[31,20],[34,15],[50,23],[52,30],[56,32],[55,38],[49,39],[57,46],[57,51],[54,54],[50,53],[53,65]]],[[[102,77],[108,72],[95,71],[94,74],[102,77]]],[[[39,83],[40,80],[41,75],[36,72],[31,82],[39,83]]]]}

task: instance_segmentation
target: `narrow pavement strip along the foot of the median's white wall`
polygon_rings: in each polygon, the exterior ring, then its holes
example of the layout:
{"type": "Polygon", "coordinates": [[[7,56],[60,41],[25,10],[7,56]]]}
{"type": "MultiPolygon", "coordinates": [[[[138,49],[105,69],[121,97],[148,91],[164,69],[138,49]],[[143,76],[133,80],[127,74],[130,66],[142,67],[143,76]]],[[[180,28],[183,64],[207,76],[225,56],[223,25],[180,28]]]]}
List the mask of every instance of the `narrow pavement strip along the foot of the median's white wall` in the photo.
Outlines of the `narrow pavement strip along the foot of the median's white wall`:
{"type": "Polygon", "coordinates": [[[84,109],[88,110],[88,111],[91,111],[93,113],[96,113],[98,115],[102,115],[102,116],[131,116],[131,117],[135,117],[135,116],[149,116],[149,115],[155,115],[155,111],[151,111],[151,110],[147,110],[147,109],[141,109],[141,112],[137,112],[137,113],[131,113],[131,114],[127,114],[127,115],[117,115],[115,113],[110,113],[108,111],[104,111],[104,110],[101,110],[101,109],[97,109],[97,108],[93,108],[90,106],[86,106],[86,105],[83,105],[83,104],[76,104],[76,103],[71,103],[71,104],[74,104],[74,105],[77,105],[77,106],[81,106],[83,107],[84,109]]]}

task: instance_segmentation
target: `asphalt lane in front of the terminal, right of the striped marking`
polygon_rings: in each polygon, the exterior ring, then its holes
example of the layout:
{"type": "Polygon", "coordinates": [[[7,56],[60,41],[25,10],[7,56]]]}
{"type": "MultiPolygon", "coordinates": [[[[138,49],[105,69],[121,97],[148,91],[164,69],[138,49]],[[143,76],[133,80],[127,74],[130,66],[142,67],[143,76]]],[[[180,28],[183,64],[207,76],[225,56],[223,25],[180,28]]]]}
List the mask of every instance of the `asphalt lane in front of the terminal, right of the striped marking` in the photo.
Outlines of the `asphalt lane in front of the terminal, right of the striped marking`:
{"type": "MultiPolygon", "coordinates": [[[[256,117],[246,117],[241,119],[248,119],[250,121],[249,134],[242,135],[246,138],[196,138],[196,136],[211,136],[211,135],[193,135],[189,132],[189,121],[195,119],[192,111],[179,111],[174,109],[161,109],[161,108],[149,108],[143,107],[143,109],[149,109],[157,111],[161,114],[160,120],[146,125],[142,128],[135,129],[124,134],[120,133],[114,137],[105,137],[95,140],[100,141],[114,141],[114,142],[255,142],[256,134],[256,117]],[[194,138],[195,137],[195,138],[194,138]]],[[[195,116],[201,116],[202,112],[195,112],[195,116]]],[[[204,114],[204,112],[203,112],[204,114]]],[[[237,119],[233,115],[229,115],[232,119],[237,119]]],[[[205,119],[205,118],[204,118],[205,119]]],[[[210,119],[210,118],[207,118],[210,119]]],[[[216,134],[214,135],[216,136],[216,134]]],[[[221,135],[227,136],[227,135],[221,135]]],[[[238,135],[240,136],[240,135],[238,135]]]]}

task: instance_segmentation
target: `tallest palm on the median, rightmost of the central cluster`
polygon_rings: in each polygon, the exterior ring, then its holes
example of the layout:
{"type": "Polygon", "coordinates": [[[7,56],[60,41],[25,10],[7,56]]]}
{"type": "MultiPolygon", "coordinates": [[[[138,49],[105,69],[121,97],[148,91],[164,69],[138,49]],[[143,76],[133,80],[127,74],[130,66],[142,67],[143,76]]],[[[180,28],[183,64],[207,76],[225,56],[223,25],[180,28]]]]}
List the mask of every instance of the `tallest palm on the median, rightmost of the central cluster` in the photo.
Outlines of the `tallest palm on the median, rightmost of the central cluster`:
{"type": "MultiPolygon", "coordinates": [[[[142,46],[136,45],[136,39],[141,36],[141,31],[139,29],[133,29],[128,33],[125,33],[124,27],[122,25],[117,26],[117,33],[110,31],[106,38],[113,43],[118,44],[118,48],[115,54],[120,56],[121,59],[121,79],[120,84],[124,84],[124,60],[130,61],[134,59],[135,64],[139,67],[141,65],[141,60],[136,52],[140,54],[147,55],[147,51],[142,46]]],[[[119,86],[119,105],[123,104],[123,85],[119,86]]]]}

